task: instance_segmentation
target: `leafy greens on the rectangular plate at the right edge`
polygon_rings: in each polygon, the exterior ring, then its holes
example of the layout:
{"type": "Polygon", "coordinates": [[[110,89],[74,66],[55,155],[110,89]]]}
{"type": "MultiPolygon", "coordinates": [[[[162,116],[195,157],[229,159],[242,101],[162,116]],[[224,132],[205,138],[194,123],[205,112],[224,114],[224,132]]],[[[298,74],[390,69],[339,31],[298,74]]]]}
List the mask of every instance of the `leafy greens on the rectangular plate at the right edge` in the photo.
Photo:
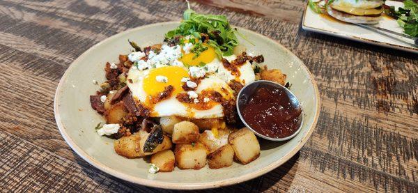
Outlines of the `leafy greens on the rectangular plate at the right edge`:
{"type": "Polygon", "coordinates": [[[403,1],[403,8],[398,10],[394,6],[385,6],[385,13],[394,17],[406,34],[418,37],[418,3],[412,0],[403,1]]]}

